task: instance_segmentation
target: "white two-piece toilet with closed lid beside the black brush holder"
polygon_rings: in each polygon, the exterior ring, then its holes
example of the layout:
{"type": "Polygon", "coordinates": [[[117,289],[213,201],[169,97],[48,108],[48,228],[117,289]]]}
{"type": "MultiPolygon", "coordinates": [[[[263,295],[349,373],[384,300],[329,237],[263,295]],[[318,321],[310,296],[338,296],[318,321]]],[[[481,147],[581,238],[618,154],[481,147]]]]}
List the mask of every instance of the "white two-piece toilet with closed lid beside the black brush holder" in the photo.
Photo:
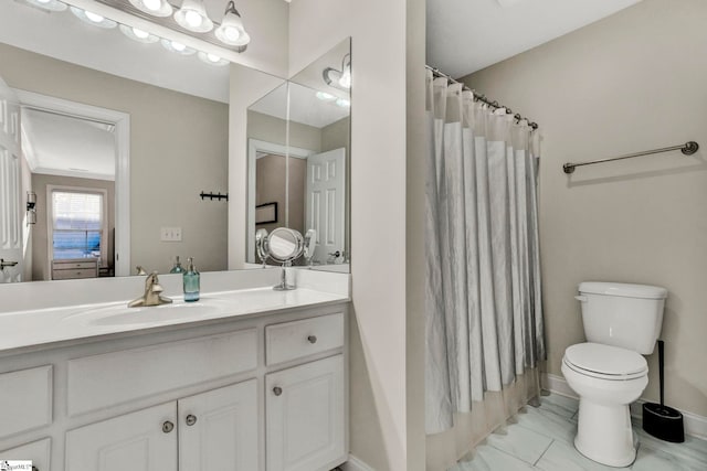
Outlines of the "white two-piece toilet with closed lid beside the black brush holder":
{"type": "Polygon", "coordinates": [[[585,343],[564,351],[562,374],[579,395],[574,447],[610,467],[627,467],[636,456],[629,405],[648,384],[642,355],[661,334],[667,290],[646,285],[582,282],[585,343]]]}

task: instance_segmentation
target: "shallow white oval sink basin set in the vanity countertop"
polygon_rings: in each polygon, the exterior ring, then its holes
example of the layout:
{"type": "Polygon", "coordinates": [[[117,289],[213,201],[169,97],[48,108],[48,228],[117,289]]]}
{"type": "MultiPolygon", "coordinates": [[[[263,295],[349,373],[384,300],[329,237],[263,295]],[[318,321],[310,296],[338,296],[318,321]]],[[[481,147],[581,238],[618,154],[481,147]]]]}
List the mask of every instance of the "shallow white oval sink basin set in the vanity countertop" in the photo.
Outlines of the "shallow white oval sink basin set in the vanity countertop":
{"type": "Polygon", "coordinates": [[[65,318],[67,321],[82,320],[91,325],[130,325],[161,324],[177,320],[199,320],[223,311],[220,302],[175,302],[171,304],[128,308],[126,304],[114,304],[91,309],[65,318]]]}

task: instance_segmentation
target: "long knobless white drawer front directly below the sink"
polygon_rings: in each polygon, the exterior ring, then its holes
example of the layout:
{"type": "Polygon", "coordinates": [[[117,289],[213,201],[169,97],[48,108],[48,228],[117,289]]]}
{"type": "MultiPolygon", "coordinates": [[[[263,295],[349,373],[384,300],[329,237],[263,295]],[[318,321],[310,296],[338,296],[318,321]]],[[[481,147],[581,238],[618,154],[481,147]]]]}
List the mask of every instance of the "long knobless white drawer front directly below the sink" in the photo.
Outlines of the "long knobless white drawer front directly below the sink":
{"type": "Polygon", "coordinates": [[[255,329],[68,361],[68,415],[255,370],[255,329]]]}

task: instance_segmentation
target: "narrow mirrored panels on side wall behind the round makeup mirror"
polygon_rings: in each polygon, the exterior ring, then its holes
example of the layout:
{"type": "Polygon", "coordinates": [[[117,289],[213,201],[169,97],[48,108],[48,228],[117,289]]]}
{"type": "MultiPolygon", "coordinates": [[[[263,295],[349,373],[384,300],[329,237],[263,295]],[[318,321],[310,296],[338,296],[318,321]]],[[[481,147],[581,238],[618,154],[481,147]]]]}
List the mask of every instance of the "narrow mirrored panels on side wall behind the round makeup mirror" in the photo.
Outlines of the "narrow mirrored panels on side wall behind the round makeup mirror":
{"type": "Polygon", "coordinates": [[[249,107],[249,263],[257,229],[289,227],[315,232],[313,269],[349,271],[350,96],[347,39],[249,107]]]}

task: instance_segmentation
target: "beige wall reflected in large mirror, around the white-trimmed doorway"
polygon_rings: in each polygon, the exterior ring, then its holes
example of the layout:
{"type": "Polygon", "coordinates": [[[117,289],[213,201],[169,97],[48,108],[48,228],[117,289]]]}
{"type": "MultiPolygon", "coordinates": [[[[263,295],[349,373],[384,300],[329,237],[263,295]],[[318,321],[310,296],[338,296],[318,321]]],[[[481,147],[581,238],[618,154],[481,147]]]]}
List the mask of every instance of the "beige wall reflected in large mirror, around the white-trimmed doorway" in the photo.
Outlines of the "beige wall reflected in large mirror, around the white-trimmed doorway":
{"type": "Polygon", "coordinates": [[[0,44],[11,87],[130,114],[131,265],[160,272],[173,256],[202,271],[226,267],[229,107],[0,44]],[[180,226],[181,243],[160,242],[180,226]]]}

